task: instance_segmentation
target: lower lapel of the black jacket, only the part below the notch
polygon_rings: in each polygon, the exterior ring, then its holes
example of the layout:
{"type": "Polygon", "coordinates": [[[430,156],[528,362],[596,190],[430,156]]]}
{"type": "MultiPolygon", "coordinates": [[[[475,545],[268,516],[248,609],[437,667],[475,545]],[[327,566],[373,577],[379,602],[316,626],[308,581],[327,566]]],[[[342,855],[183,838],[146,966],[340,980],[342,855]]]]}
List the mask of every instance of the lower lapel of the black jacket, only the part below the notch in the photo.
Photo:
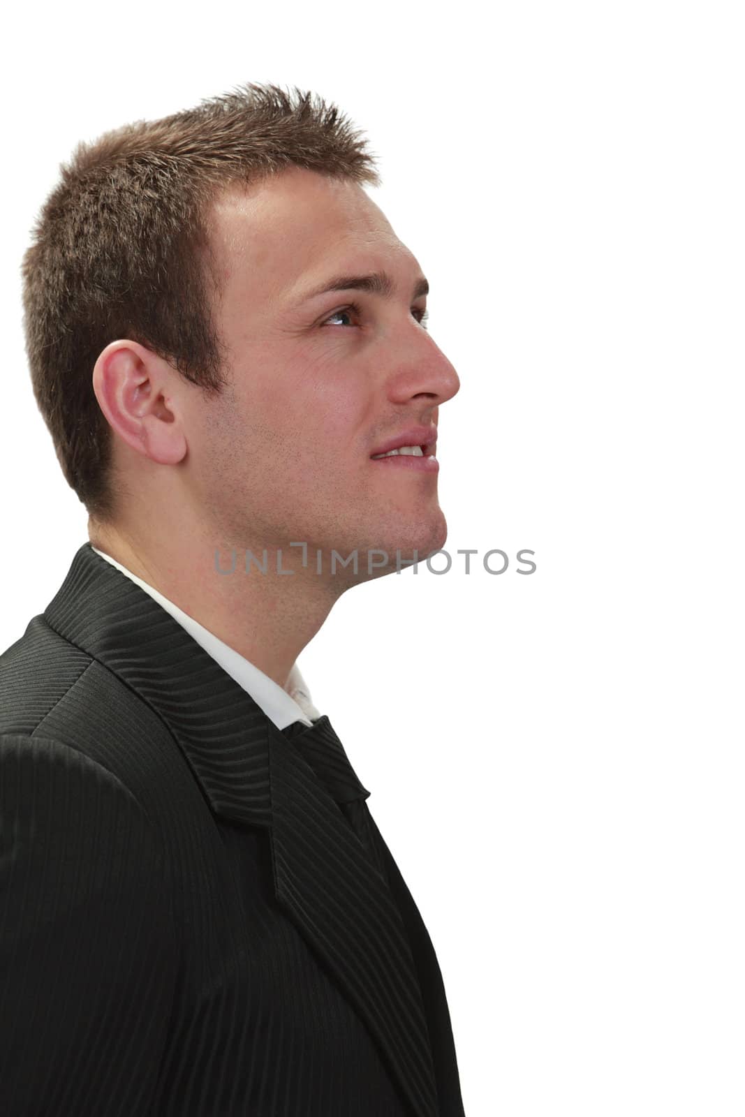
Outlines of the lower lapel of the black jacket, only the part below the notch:
{"type": "Polygon", "coordinates": [[[332,967],[420,1117],[438,1114],[427,1021],[388,884],[290,742],[270,728],[277,898],[332,967]]]}

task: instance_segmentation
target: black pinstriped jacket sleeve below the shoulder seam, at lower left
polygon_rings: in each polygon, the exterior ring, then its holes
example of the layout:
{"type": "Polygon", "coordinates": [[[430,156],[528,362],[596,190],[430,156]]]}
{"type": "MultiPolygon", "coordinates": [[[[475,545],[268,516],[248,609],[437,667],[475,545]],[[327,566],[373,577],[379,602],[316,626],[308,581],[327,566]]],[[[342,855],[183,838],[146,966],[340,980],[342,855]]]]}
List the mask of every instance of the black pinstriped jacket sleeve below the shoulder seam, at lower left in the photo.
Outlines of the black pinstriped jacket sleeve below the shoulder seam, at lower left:
{"type": "Polygon", "coordinates": [[[159,834],[105,766],[37,734],[0,735],[0,1108],[107,1113],[113,1053],[142,1113],[179,966],[159,834]]]}

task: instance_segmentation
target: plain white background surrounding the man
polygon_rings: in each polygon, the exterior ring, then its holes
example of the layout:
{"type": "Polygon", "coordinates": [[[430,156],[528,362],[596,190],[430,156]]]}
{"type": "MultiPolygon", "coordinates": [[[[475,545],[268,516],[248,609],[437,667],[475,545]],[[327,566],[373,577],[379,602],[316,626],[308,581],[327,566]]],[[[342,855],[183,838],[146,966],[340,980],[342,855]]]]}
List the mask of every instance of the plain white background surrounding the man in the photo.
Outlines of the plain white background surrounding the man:
{"type": "Polygon", "coordinates": [[[87,538],[21,330],[60,161],[248,80],[379,156],[462,383],[453,565],[347,594],[300,666],[434,942],[468,1117],[745,1111],[738,16],[26,6],[0,74],[3,648],[87,538]]]}

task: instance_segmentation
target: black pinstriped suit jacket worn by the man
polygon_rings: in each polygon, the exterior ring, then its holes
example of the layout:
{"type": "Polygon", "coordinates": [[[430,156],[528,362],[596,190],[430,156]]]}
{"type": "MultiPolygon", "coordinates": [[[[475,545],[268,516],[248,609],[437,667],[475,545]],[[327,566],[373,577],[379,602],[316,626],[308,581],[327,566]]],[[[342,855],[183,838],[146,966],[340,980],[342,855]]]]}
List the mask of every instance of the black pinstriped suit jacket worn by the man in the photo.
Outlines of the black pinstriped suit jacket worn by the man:
{"type": "Polygon", "coordinates": [[[385,873],[88,543],[0,657],[0,775],[3,1115],[462,1115],[434,951],[372,817],[385,873]]]}

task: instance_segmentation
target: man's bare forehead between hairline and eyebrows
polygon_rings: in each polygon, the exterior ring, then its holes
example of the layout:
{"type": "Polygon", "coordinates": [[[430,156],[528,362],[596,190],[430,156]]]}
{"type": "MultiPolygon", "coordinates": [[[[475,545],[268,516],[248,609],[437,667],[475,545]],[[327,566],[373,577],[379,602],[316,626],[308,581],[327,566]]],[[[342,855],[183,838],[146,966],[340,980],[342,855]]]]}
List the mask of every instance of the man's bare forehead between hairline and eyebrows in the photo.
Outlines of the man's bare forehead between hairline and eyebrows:
{"type": "Polygon", "coordinates": [[[293,298],[333,273],[417,269],[388,219],[355,182],[292,168],[223,191],[208,216],[223,283],[293,298]]]}

